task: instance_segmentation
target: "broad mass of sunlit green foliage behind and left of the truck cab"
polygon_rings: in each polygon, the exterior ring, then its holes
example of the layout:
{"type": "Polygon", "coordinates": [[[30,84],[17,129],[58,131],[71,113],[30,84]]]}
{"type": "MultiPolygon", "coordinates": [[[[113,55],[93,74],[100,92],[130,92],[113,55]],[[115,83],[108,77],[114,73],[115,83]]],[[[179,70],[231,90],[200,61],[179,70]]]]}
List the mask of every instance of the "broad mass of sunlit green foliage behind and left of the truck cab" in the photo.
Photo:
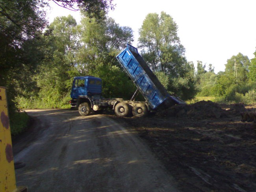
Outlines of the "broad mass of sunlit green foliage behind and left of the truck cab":
{"type": "MultiPolygon", "coordinates": [[[[131,87],[131,83],[128,83],[115,55],[120,52],[119,48],[126,46],[126,42],[132,41],[130,28],[120,27],[107,17],[100,22],[83,17],[80,25],[72,16],[57,17],[45,31],[44,38],[48,59],[41,63],[35,76],[39,91],[29,98],[36,103],[33,105],[43,108],[68,107],[74,76],[100,77],[103,95],[128,96],[119,83],[127,87],[131,87]]],[[[129,90],[133,89],[134,86],[129,90]]],[[[21,107],[25,106],[28,106],[28,102],[21,107]]]]}

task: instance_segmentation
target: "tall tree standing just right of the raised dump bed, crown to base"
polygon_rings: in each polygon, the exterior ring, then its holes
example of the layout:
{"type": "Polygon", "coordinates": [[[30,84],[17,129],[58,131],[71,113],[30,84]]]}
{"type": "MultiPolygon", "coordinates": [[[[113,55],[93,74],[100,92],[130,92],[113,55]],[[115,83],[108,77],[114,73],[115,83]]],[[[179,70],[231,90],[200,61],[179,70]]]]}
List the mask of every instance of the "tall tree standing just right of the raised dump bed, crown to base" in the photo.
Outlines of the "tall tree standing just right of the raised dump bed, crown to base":
{"type": "Polygon", "coordinates": [[[170,15],[149,13],[139,29],[138,47],[154,72],[161,71],[168,76],[168,90],[189,99],[195,94],[194,66],[186,61],[177,30],[170,15]]]}

